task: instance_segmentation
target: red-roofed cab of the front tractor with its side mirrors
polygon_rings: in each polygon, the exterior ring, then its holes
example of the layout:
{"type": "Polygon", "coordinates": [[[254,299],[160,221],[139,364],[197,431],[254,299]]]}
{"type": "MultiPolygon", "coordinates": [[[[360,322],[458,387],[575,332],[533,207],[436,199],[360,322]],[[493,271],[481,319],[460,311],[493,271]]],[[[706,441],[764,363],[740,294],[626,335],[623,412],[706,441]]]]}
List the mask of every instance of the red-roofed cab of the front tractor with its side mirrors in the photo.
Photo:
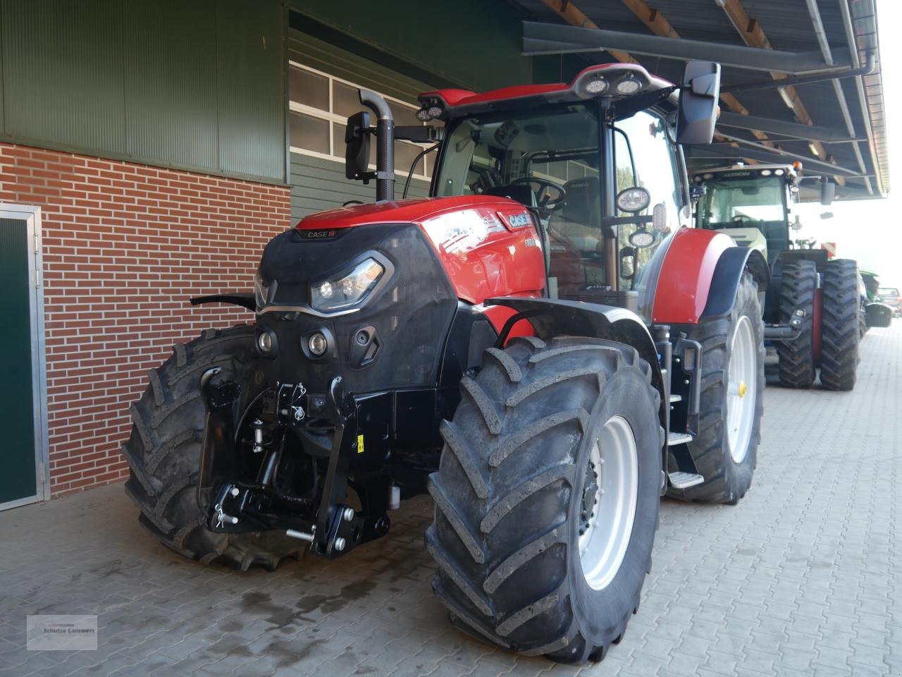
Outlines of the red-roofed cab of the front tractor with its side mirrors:
{"type": "MultiPolygon", "coordinates": [[[[440,89],[420,95],[417,117],[444,127],[391,133],[439,141],[428,149],[438,151],[433,199],[492,196],[526,209],[518,224],[538,232],[549,298],[620,306],[650,321],[640,301],[648,296],[645,271],[690,214],[679,144],[709,143],[717,77],[708,62],[689,64],[682,86],[636,64],[603,64],[569,84],[440,89]]],[[[361,100],[381,115],[366,92],[361,100]]],[[[390,200],[379,177],[391,170],[367,171],[368,135],[388,130],[365,120],[348,121],[346,174],[377,179],[377,201],[390,200]]]]}

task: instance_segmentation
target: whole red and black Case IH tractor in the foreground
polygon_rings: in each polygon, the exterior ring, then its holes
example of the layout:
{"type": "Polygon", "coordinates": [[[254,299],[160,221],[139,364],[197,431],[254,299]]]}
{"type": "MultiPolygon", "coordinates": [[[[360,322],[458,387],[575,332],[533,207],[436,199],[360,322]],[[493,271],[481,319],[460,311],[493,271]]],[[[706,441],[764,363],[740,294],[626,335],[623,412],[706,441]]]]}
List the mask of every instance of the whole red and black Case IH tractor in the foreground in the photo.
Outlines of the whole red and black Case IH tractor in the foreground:
{"type": "MultiPolygon", "coordinates": [[[[563,662],[620,641],[660,496],[748,491],[764,386],[759,255],[684,227],[679,144],[710,143],[720,68],[439,90],[348,121],[374,204],[266,246],[250,326],[175,347],[133,406],[127,491],[162,543],[275,567],[346,555],[428,491],[456,625],[563,662]],[[369,169],[369,140],[378,144],[369,169]],[[393,199],[393,140],[437,141],[432,196],[393,199]]],[[[765,273],[766,277],[766,273],[765,273]]]]}

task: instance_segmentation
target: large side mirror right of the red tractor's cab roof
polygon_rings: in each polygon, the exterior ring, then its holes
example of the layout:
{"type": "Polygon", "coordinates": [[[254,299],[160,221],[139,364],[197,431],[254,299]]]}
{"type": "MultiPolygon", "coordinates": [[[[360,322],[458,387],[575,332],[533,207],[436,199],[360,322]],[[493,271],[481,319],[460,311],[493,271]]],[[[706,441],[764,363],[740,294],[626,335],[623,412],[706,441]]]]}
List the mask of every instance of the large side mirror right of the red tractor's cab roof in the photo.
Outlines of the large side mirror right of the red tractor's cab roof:
{"type": "Polygon", "coordinates": [[[676,116],[677,144],[710,144],[721,94],[721,64],[689,61],[683,71],[676,116]]]}

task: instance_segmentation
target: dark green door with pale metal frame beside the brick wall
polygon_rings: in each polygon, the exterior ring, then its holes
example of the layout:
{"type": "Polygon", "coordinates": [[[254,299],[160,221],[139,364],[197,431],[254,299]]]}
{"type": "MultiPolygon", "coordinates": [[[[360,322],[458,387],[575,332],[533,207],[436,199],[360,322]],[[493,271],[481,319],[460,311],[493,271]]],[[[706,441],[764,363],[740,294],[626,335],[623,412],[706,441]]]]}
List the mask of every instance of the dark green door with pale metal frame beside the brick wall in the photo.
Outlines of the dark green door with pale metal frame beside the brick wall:
{"type": "Polygon", "coordinates": [[[0,204],[0,509],[50,497],[40,220],[38,209],[0,204]]]}

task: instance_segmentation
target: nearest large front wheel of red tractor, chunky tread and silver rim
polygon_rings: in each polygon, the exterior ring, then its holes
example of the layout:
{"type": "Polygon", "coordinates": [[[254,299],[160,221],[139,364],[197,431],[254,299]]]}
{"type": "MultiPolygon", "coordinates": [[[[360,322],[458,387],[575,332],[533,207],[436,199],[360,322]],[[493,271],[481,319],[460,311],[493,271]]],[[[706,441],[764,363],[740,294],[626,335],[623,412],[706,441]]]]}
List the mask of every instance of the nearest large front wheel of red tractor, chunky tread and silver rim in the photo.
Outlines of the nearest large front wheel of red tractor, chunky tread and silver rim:
{"type": "Polygon", "coordinates": [[[483,640],[600,661],[639,607],[658,520],[663,429],[651,369],[595,338],[490,348],[442,423],[430,477],[433,589],[483,640]]]}

